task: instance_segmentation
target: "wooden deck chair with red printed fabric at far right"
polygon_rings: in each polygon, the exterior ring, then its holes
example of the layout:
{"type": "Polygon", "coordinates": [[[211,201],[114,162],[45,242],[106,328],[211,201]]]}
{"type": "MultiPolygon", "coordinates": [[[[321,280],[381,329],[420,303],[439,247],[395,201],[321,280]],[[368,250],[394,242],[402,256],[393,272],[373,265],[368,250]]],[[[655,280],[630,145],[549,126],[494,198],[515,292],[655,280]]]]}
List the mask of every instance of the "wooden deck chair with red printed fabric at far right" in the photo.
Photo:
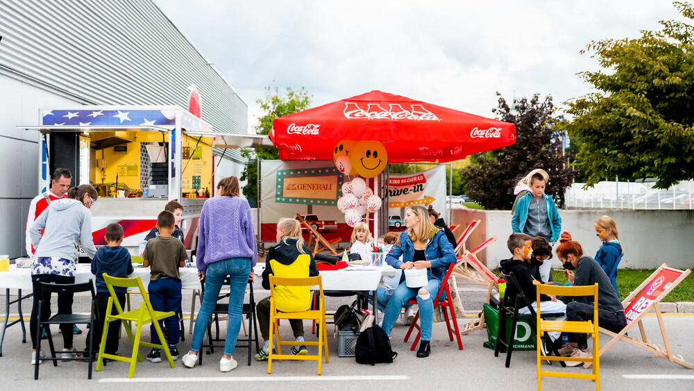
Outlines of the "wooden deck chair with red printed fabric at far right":
{"type": "MultiPolygon", "coordinates": [[[[629,296],[622,301],[624,313],[627,316],[627,326],[619,333],[613,333],[604,328],[600,328],[601,333],[612,337],[612,339],[607,342],[602,349],[600,349],[600,356],[602,356],[617,341],[622,340],[634,345],[635,347],[640,347],[645,351],[649,351],[657,356],[667,358],[672,363],[677,363],[684,367],[694,369],[694,365],[687,363],[682,356],[674,356],[672,354],[668,334],[665,331],[663,315],[658,306],[660,301],[665,298],[670,291],[675,289],[677,285],[679,285],[679,283],[681,283],[684,278],[689,275],[690,272],[690,269],[672,269],[672,267],[668,267],[668,265],[663,263],[663,265],[661,265],[655,272],[653,272],[653,274],[646,278],[641,285],[638,285],[638,288],[631,292],[629,296]],[[646,338],[643,322],[641,321],[647,313],[650,313],[651,310],[655,310],[665,347],[654,344],[650,342],[648,338],[646,338]],[[638,335],[626,335],[626,333],[636,324],[638,324],[641,338],[639,338],[638,335]]],[[[584,364],[585,368],[589,366],[590,363],[584,364]]]]}

